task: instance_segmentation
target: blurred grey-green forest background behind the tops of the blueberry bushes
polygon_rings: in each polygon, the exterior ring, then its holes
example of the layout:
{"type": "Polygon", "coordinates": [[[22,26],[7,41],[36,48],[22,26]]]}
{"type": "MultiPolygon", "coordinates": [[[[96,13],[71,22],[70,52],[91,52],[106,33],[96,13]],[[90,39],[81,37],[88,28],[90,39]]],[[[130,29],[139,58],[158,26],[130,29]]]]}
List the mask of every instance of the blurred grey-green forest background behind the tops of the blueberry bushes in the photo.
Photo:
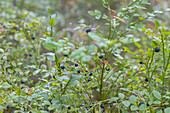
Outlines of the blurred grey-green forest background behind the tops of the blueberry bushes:
{"type": "MultiPolygon", "coordinates": [[[[102,6],[101,0],[0,0],[0,18],[18,18],[19,11],[31,11],[35,17],[48,17],[47,9],[50,8],[53,14],[57,15],[56,29],[62,30],[67,27],[76,27],[78,23],[86,23],[87,25],[97,25],[101,23],[94,20],[87,11],[99,10],[107,12],[107,9],[102,6]],[[12,10],[11,10],[12,9],[12,10]],[[10,15],[13,14],[11,17],[10,15]]],[[[124,0],[110,0],[111,9],[118,10],[121,7],[121,2],[124,0]]],[[[127,4],[130,0],[127,0],[127,4]]],[[[168,8],[169,0],[149,0],[152,4],[147,11],[160,10],[168,8]]],[[[169,14],[167,14],[169,15],[169,14]]],[[[168,17],[168,16],[167,16],[168,17]]],[[[159,17],[160,20],[169,25],[170,18],[159,17]]],[[[147,23],[148,27],[153,27],[152,23],[147,23]]]]}

